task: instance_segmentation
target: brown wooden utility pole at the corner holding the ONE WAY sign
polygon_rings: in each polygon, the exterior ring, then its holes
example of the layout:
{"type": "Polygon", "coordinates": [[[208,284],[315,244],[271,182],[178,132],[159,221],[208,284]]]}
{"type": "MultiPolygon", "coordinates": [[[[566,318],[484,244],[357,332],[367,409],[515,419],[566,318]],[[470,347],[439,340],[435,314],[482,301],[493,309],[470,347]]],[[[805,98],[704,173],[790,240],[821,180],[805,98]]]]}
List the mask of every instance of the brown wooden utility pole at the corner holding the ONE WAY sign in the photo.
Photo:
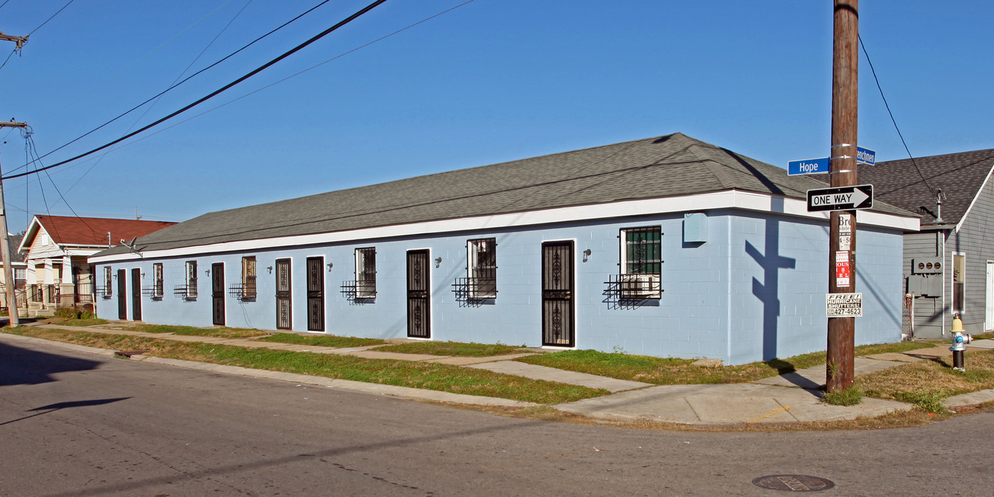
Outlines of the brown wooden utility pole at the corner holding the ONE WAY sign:
{"type": "MultiPolygon", "coordinates": [[[[859,65],[859,0],[835,0],[832,50],[831,185],[856,186],[856,115],[859,65]]],[[[833,211],[829,232],[828,292],[856,289],[856,211],[833,211]]],[[[853,386],[856,319],[828,318],[828,392],[853,386]]]]}

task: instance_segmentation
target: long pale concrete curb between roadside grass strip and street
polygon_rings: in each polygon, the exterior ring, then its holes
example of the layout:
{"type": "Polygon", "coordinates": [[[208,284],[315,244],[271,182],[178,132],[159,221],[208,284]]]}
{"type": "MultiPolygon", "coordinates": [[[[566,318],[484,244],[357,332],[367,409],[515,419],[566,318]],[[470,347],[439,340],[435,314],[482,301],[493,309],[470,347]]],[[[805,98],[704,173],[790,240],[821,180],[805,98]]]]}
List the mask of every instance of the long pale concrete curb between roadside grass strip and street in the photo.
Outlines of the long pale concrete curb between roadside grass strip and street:
{"type": "MultiPolygon", "coordinates": [[[[45,340],[31,336],[21,336],[8,333],[0,333],[0,339],[12,338],[15,340],[37,343],[40,345],[50,345],[55,347],[76,350],[90,354],[97,354],[106,357],[113,357],[114,350],[105,348],[87,347],[75,343],[45,340]]],[[[371,395],[389,395],[416,401],[444,402],[450,404],[468,404],[475,406],[495,406],[495,407],[529,407],[539,406],[532,402],[513,401],[496,397],[483,397],[479,395],[453,394],[449,392],[438,392],[435,390],[421,390],[412,387],[400,387],[396,385],[382,385],[379,383],[364,383],[361,381],[338,380],[324,378],[320,376],[309,376],[296,373],[284,373],[280,371],[269,371],[265,369],[251,369],[241,366],[227,366],[224,364],[213,364],[210,362],[185,361],[180,359],[167,359],[163,357],[150,357],[145,355],[134,355],[132,360],[151,362],[156,364],[166,364],[170,366],[183,367],[187,369],[197,369],[201,371],[212,371],[216,373],[234,374],[239,376],[249,376],[254,378],[266,378],[270,380],[286,381],[293,383],[304,383],[308,385],[319,385],[329,388],[339,388],[351,392],[359,392],[371,395]]]]}

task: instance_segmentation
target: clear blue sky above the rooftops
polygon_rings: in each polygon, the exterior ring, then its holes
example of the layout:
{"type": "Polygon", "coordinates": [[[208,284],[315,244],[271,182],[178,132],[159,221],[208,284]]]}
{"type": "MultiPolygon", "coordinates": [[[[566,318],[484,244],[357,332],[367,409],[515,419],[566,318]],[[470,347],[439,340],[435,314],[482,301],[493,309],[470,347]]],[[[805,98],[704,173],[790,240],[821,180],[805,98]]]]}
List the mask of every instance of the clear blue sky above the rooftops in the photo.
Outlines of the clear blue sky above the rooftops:
{"type": "MultiPolygon", "coordinates": [[[[9,0],[0,31],[29,33],[67,1],[9,0]]],[[[46,154],[318,1],[75,0],[0,69],[0,117],[28,122],[46,154]]],[[[10,229],[36,213],[136,207],[181,221],[678,131],[780,167],[828,155],[829,0],[475,0],[276,82],[463,1],[390,0],[144,139],[5,182],[10,229]]],[[[368,3],[333,0],[42,164],[162,117],[368,3]]],[[[861,3],[861,35],[911,153],[994,148],[994,34],[981,22],[994,5],[861,3]]],[[[27,162],[25,140],[3,137],[9,174],[27,162]]],[[[879,161],[908,157],[862,56],[859,137],[879,161]]]]}

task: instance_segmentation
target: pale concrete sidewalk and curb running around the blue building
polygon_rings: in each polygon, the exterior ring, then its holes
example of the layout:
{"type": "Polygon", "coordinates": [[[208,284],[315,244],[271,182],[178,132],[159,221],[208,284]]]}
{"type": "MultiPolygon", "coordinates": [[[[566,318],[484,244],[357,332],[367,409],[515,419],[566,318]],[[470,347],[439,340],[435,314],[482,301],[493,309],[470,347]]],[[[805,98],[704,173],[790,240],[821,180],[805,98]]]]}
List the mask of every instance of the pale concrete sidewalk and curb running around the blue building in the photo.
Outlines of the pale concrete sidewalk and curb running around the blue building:
{"type": "MultiPolygon", "coordinates": [[[[588,418],[616,421],[656,421],[690,425],[742,425],[793,422],[817,422],[853,420],[861,417],[877,417],[891,412],[907,411],[909,404],[879,399],[864,398],[859,405],[851,407],[831,406],[821,403],[822,392],[818,388],[825,380],[825,365],[788,373],[772,378],[764,378],[744,384],[722,385],[666,385],[653,386],[627,380],[617,380],[573,371],[537,366],[512,359],[524,354],[511,354],[493,357],[448,357],[425,354],[402,354],[370,350],[374,346],[332,348],[289,343],[260,342],[248,338],[217,338],[197,335],[173,335],[169,333],[148,333],[125,331],[95,326],[63,326],[58,324],[28,324],[36,326],[74,329],[108,334],[130,334],[157,339],[218,343],[253,348],[270,348],[297,352],[329,353],[354,355],[358,357],[411,360],[454,364],[463,367],[487,369],[503,374],[523,376],[532,379],[555,381],[589,388],[601,388],[611,395],[586,399],[569,404],[554,406],[556,409],[588,418]]],[[[53,342],[18,335],[0,333],[3,339],[20,339],[44,342],[48,345],[83,350],[103,355],[113,355],[114,351],[93,349],[62,342],[53,342]]],[[[975,348],[994,348],[994,340],[977,340],[970,344],[975,348]]],[[[905,353],[876,354],[856,358],[856,374],[868,374],[891,367],[933,357],[951,355],[947,345],[912,350],[905,353]]],[[[348,380],[333,380],[323,377],[280,373],[236,366],[223,366],[210,363],[180,361],[158,357],[132,355],[133,360],[143,360],[216,372],[240,374],[297,383],[324,385],[381,395],[392,395],[406,399],[475,404],[489,406],[523,407],[534,404],[462,394],[450,394],[409,387],[395,387],[362,383],[348,380]]],[[[979,404],[994,400],[994,391],[985,390],[950,398],[947,407],[979,404]]]]}

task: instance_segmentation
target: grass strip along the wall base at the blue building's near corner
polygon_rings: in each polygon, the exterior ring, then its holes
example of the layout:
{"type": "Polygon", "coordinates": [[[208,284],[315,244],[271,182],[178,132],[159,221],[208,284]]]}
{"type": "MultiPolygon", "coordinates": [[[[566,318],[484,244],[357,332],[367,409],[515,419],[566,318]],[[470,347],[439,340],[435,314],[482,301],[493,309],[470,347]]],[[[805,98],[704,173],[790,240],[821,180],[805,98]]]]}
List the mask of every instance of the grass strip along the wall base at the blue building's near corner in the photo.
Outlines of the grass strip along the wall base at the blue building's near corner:
{"type": "MultiPolygon", "coordinates": [[[[913,341],[860,345],[856,347],[856,355],[903,352],[931,346],[934,346],[934,343],[913,341]]],[[[739,366],[705,367],[695,366],[691,359],[607,353],[595,350],[565,350],[520,357],[514,360],[655,385],[709,385],[745,383],[790,373],[824,364],[826,357],[825,352],[812,352],[786,359],[752,362],[739,366]]]]}

